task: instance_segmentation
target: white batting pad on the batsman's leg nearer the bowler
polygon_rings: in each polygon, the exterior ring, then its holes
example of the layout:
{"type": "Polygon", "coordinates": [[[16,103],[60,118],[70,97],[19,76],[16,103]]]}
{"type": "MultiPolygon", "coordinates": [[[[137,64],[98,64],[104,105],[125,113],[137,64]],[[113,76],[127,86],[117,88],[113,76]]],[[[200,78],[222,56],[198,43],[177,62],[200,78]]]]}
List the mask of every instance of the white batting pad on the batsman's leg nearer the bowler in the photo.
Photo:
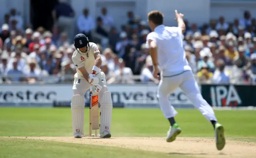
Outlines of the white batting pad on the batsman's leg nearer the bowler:
{"type": "Polygon", "coordinates": [[[106,91],[100,100],[100,134],[105,130],[110,132],[112,108],[111,93],[106,91]]]}

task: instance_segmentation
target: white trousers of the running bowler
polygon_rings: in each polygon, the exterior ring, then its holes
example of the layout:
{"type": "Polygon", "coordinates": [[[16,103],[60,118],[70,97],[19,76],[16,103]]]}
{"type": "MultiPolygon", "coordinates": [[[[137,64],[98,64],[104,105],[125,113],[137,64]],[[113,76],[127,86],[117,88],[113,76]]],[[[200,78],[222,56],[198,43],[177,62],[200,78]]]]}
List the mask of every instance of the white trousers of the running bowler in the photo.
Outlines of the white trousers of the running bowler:
{"type": "Polygon", "coordinates": [[[168,100],[170,93],[174,92],[178,87],[184,91],[188,99],[208,121],[217,121],[212,107],[203,99],[192,71],[183,71],[182,73],[170,76],[165,76],[161,73],[157,97],[160,109],[166,119],[178,114],[168,100]]]}

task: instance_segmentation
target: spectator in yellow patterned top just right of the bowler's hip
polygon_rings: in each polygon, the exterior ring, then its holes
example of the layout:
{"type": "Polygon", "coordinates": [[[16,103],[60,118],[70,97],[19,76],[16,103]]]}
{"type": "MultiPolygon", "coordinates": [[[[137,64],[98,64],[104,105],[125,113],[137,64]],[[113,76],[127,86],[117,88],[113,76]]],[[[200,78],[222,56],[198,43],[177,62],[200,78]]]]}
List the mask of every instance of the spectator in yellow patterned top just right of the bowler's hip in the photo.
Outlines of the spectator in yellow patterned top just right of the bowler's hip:
{"type": "Polygon", "coordinates": [[[197,73],[199,82],[201,84],[209,84],[212,83],[212,72],[209,71],[209,67],[207,64],[201,66],[200,71],[197,73]]]}

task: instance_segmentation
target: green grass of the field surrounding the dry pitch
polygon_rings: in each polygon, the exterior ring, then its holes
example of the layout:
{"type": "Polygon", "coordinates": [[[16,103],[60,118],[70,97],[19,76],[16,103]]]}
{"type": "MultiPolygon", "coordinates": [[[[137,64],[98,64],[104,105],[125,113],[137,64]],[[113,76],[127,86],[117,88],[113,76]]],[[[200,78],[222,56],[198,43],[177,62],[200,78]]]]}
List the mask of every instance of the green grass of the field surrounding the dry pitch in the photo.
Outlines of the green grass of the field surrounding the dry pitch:
{"type": "MultiPolygon", "coordinates": [[[[212,125],[197,110],[177,110],[180,137],[213,137],[212,125]]],[[[88,133],[88,109],[85,131],[88,133]]],[[[254,142],[256,111],[215,111],[231,140],[254,142]]],[[[112,113],[112,136],[165,137],[169,122],[160,109],[118,109],[112,113]]],[[[72,136],[70,108],[0,108],[0,158],[188,158],[108,146],[5,138],[5,136],[72,136]],[[106,156],[108,155],[108,156],[106,156]]],[[[190,157],[191,158],[191,157],[190,157]]]]}

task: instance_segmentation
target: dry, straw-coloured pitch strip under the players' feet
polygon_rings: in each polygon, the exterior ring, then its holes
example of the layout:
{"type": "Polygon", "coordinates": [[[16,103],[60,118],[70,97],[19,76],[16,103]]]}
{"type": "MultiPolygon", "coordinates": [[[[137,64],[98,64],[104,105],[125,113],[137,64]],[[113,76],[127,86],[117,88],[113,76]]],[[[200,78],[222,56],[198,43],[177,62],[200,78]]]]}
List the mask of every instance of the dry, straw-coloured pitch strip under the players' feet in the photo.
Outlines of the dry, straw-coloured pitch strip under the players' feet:
{"type": "Polygon", "coordinates": [[[256,158],[256,143],[227,140],[222,151],[215,147],[213,138],[177,138],[167,143],[164,138],[141,137],[114,137],[109,139],[83,137],[12,137],[22,139],[47,140],[57,142],[71,142],[80,144],[94,144],[102,146],[116,146],[135,150],[164,152],[168,154],[181,154],[204,158],[256,158]]]}

